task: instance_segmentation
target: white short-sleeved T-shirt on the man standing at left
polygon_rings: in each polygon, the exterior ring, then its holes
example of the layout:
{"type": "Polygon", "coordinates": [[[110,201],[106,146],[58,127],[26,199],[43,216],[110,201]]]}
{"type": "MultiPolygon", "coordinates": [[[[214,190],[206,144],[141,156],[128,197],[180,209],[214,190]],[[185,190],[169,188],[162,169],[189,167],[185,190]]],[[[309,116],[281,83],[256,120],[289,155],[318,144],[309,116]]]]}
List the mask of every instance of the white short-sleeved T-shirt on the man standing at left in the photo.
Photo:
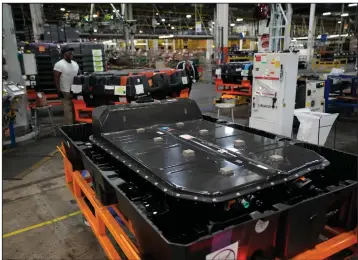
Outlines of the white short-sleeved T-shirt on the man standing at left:
{"type": "Polygon", "coordinates": [[[71,92],[71,85],[73,84],[73,78],[78,74],[79,66],[74,60],[68,63],[62,59],[56,62],[53,70],[61,72],[60,88],[62,92],[71,92]]]}

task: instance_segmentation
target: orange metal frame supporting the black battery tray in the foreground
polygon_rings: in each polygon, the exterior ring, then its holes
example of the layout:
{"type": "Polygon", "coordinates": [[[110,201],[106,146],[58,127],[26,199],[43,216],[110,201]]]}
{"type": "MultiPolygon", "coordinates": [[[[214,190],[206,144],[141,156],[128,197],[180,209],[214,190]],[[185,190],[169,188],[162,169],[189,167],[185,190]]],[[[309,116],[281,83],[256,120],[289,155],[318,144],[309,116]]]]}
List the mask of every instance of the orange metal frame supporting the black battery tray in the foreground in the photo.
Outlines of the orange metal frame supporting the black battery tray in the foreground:
{"type": "MultiPolygon", "coordinates": [[[[72,192],[79,208],[82,211],[83,216],[89,222],[93,233],[97,237],[104,252],[109,259],[121,259],[115,246],[106,234],[106,229],[112,234],[114,240],[121,248],[123,253],[128,259],[140,260],[139,249],[134,245],[132,240],[128,237],[127,233],[123,230],[121,225],[109,212],[111,207],[121,218],[125,226],[135,236],[135,230],[133,229],[130,220],[126,220],[125,217],[119,211],[117,205],[104,206],[97,198],[94,190],[90,187],[89,183],[92,182],[91,177],[84,178],[79,171],[73,171],[71,162],[67,159],[64,145],[62,148],[57,147],[59,152],[63,156],[64,170],[65,170],[65,181],[68,189],[72,192]],[[85,197],[90,201],[94,208],[95,214],[92,213],[85,197]]],[[[326,227],[326,230],[333,233],[334,236],[325,242],[322,242],[312,250],[307,250],[295,257],[293,260],[324,260],[346,248],[351,248],[357,244],[358,229],[354,231],[344,232],[341,230],[337,231],[330,227],[326,227]]],[[[353,248],[354,255],[357,254],[357,249],[353,248]]],[[[279,260],[276,258],[276,260],[279,260]]]]}

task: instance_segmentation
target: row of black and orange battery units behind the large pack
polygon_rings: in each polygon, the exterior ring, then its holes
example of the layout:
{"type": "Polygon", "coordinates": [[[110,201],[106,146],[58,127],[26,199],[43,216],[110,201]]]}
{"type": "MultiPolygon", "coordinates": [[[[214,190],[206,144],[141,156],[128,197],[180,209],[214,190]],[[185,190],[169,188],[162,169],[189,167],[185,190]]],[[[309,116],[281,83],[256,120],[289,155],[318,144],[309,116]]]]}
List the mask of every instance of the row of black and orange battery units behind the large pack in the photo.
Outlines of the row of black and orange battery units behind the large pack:
{"type": "Polygon", "coordinates": [[[71,92],[77,122],[92,122],[93,108],[131,102],[154,102],[188,97],[189,76],[185,70],[131,70],[94,72],[74,78],[71,92]],[[83,115],[87,111],[87,115],[83,115]]]}

